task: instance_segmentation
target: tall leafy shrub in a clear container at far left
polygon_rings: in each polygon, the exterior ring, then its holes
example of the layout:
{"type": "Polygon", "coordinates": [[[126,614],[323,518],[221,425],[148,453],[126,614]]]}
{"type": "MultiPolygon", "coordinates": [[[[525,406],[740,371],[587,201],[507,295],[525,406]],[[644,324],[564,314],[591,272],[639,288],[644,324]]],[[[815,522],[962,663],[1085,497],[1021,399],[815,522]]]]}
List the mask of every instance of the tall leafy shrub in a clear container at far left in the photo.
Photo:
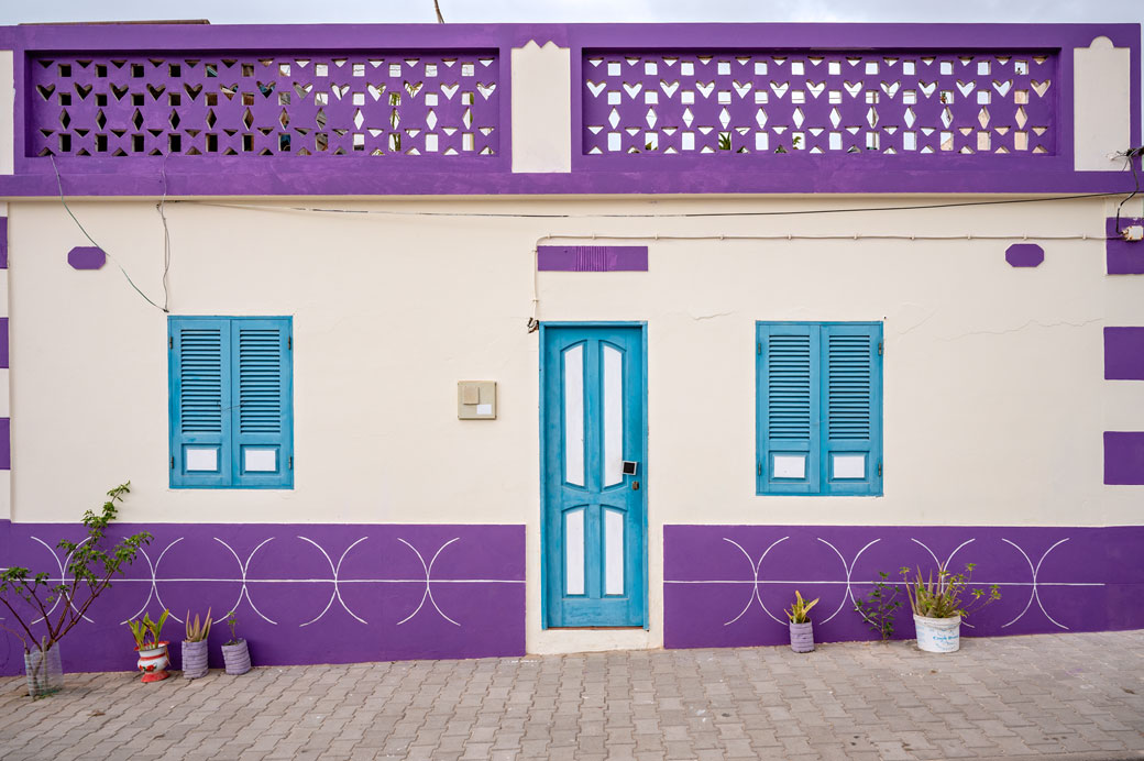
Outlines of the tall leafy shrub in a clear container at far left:
{"type": "Polygon", "coordinates": [[[92,603],[111,587],[111,580],[151,541],[151,534],[141,531],[106,548],[108,526],[118,515],[116,502],[129,491],[130,482],[120,484],[108,492],[110,499],[98,515],[84,513],[85,539],[56,542],[66,558],[62,578],[55,579],[47,571],[33,574],[17,565],[0,571],[0,604],[7,611],[0,627],[24,644],[27,693],[32,698],[63,689],[59,640],[84,620],[92,603]],[[33,628],[40,628],[37,624],[41,620],[43,634],[37,635],[33,628]]]}

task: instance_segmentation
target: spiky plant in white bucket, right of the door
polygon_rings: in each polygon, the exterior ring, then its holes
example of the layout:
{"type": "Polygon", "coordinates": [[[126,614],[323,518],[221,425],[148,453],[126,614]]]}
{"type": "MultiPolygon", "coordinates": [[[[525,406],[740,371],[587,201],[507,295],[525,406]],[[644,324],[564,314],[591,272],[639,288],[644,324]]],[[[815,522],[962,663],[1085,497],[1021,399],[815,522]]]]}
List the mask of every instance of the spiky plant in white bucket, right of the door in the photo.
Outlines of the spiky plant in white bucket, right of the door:
{"type": "Polygon", "coordinates": [[[952,573],[944,565],[938,565],[936,579],[932,571],[929,577],[922,577],[921,569],[917,569],[913,581],[908,579],[909,568],[901,568],[920,649],[925,652],[956,652],[961,647],[961,619],[967,618],[970,611],[1001,599],[1001,589],[995,584],[988,592],[970,588],[974,568],[974,563],[967,563],[964,572],[952,573]]]}

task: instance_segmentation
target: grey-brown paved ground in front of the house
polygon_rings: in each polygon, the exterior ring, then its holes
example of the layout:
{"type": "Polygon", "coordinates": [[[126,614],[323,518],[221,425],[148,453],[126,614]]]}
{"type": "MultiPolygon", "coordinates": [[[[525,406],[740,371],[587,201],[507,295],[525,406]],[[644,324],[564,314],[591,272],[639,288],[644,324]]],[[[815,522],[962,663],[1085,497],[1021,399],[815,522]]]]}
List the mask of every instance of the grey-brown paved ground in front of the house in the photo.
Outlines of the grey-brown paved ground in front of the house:
{"type": "Polygon", "coordinates": [[[1144,632],[0,680],[5,759],[1144,758],[1144,632]]]}

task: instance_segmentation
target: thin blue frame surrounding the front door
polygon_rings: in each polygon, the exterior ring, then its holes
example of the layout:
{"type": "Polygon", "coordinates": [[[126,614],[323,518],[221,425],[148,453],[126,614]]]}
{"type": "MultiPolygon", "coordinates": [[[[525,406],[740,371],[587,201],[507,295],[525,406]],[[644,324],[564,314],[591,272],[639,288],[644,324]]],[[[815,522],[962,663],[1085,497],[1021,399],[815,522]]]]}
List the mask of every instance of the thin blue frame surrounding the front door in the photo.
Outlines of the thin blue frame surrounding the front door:
{"type": "MultiPolygon", "coordinates": [[[[639,452],[639,467],[643,468],[643,475],[641,477],[641,499],[643,500],[643,629],[650,631],[650,618],[648,610],[648,592],[650,589],[650,580],[648,578],[648,322],[646,320],[571,320],[571,322],[543,322],[540,324],[540,350],[539,350],[539,371],[537,372],[537,378],[539,379],[539,394],[540,394],[540,417],[538,419],[538,435],[540,437],[540,628],[541,629],[564,629],[564,628],[575,628],[575,627],[563,627],[563,626],[549,626],[548,624],[548,557],[547,552],[547,529],[548,523],[548,501],[546,497],[545,489],[545,463],[548,460],[548,446],[546,444],[545,436],[545,415],[547,410],[545,409],[545,354],[547,348],[548,336],[546,328],[548,327],[636,327],[639,328],[639,362],[643,365],[643,388],[639,394],[643,399],[643,430],[641,431],[639,441],[642,442],[642,450],[639,452]]],[[[635,628],[635,627],[619,627],[619,628],[635,628]]]]}

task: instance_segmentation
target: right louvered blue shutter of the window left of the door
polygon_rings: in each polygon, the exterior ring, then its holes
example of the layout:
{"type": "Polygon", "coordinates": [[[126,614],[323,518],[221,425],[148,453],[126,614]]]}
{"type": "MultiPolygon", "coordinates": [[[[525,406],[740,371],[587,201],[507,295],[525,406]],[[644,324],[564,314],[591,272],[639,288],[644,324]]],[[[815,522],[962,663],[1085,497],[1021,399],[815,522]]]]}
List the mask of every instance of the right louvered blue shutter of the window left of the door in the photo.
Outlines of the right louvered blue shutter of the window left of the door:
{"type": "Polygon", "coordinates": [[[233,485],[294,484],[291,318],[231,322],[231,468],[233,485]]]}

